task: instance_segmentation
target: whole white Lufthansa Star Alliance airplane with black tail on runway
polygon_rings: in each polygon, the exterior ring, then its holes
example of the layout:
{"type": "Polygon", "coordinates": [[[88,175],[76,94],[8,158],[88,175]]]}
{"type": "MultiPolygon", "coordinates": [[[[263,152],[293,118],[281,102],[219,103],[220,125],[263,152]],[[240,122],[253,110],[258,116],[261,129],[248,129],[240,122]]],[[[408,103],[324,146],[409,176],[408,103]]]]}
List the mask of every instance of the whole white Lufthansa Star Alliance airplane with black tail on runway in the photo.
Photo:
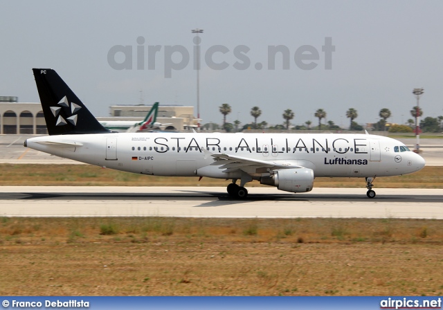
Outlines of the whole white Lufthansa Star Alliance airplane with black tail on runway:
{"type": "Polygon", "coordinates": [[[33,69],[49,136],[24,146],[115,170],[156,176],[232,180],[226,190],[245,199],[246,183],[309,192],[316,177],[365,178],[421,170],[422,156],[404,143],[366,134],[116,133],[105,129],[52,69],[33,69]],[[239,184],[237,184],[239,181],[239,184]]]}

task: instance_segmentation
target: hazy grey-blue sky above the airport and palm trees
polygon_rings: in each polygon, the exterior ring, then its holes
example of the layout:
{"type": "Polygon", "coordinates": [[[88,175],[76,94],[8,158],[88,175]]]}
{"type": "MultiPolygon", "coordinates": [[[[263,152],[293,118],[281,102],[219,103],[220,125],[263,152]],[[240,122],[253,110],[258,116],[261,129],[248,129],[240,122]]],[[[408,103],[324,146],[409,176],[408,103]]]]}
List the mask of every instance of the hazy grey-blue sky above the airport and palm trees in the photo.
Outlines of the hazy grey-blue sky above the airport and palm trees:
{"type": "MultiPolygon", "coordinates": [[[[233,109],[228,121],[244,124],[253,120],[254,106],[262,109],[259,121],[269,124],[282,123],[285,109],[296,114],[294,125],[316,124],[314,112],[322,108],[327,120],[346,127],[350,107],[361,124],[377,121],[385,107],[392,111],[388,121],[406,122],[417,87],[425,91],[424,116],[435,117],[443,115],[442,9],[441,1],[1,1],[0,95],[39,102],[31,69],[52,68],[95,116],[109,115],[110,105],[139,104],[141,97],[145,104],[197,107],[191,29],[201,28],[202,60],[211,46],[228,51],[213,54],[226,69],[202,61],[204,123],[221,122],[223,103],[233,109]],[[145,43],[138,44],[138,37],[145,43]],[[322,52],[325,37],[335,46],[330,70],[322,52]],[[131,70],[109,64],[108,53],[117,45],[132,47],[131,70]],[[275,70],[269,70],[268,46],[278,45],[289,50],[289,69],[282,69],[278,55],[275,70]],[[319,55],[311,70],[294,61],[306,45],[319,55]],[[138,46],[145,50],[143,70],[137,70],[138,46]],[[148,46],[160,46],[155,69],[148,69],[148,46]],[[165,78],[168,46],[190,54],[171,78],[165,78]],[[233,67],[236,46],[247,46],[248,69],[233,67]]],[[[114,56],[128,61],[123,53],[114,56]]],[[[171,60],[181,62],[181,54],[171,60]]]]}

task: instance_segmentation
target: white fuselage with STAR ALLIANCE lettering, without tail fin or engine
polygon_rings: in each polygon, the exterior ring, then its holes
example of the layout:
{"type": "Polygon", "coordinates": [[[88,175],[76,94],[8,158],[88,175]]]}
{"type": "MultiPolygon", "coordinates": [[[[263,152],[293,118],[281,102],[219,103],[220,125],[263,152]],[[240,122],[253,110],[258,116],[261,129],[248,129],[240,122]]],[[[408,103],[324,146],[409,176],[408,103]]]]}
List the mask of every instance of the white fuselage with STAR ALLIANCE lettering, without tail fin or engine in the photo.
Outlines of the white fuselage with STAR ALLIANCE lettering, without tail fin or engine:
{"type": "MultiPolygon", "coordinates": [[[[396,176],[416,172],[424,159],[398,140],[368,134],[115,133],[41,136],[26,146],[75,161],[158,176],[236,179],[213,154],[302,166],[314,176],[396,176]],[[401,149],[400,146],[403,146],[401,149]]],[[[262,170],[241,167],[253,179],[262,170]]]]}

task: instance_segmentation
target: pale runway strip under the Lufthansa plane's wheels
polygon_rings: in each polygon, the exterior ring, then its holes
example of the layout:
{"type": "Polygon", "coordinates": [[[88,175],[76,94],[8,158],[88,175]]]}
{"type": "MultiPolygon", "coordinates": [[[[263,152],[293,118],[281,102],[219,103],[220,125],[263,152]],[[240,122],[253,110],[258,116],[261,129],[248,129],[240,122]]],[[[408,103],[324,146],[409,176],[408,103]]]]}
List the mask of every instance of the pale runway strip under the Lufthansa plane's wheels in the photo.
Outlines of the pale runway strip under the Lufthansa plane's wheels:
{"type": "Polygon", "coordinates": [[[249,188],[246,200],[226,188],[0,187],[4,217],[361,217],[443,219],[443,190],[314,188],[291,194],[249,188]]]}

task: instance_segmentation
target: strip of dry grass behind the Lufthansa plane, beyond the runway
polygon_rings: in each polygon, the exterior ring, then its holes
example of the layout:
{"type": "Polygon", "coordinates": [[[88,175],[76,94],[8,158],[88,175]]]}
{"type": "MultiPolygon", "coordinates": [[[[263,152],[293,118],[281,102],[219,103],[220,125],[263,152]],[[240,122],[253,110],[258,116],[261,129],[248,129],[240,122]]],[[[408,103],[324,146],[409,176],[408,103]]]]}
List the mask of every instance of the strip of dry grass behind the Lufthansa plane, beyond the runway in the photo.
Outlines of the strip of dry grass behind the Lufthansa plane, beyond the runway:
{"type": "MultiPolygon", "coordinates": [[[[92,165],[0,164],[0,185],[225,186],[228,181],[198,177],[145,176],[92,165]]],[[[443,188],[443,167],[424,167],[415,174],[377,178],[377,188],[443,188]]],[[[265,186],[257,181],[248,187],[265,186]]],[[[315,187],[363,188],[364,179],[316,178],[315,187]]]]}

